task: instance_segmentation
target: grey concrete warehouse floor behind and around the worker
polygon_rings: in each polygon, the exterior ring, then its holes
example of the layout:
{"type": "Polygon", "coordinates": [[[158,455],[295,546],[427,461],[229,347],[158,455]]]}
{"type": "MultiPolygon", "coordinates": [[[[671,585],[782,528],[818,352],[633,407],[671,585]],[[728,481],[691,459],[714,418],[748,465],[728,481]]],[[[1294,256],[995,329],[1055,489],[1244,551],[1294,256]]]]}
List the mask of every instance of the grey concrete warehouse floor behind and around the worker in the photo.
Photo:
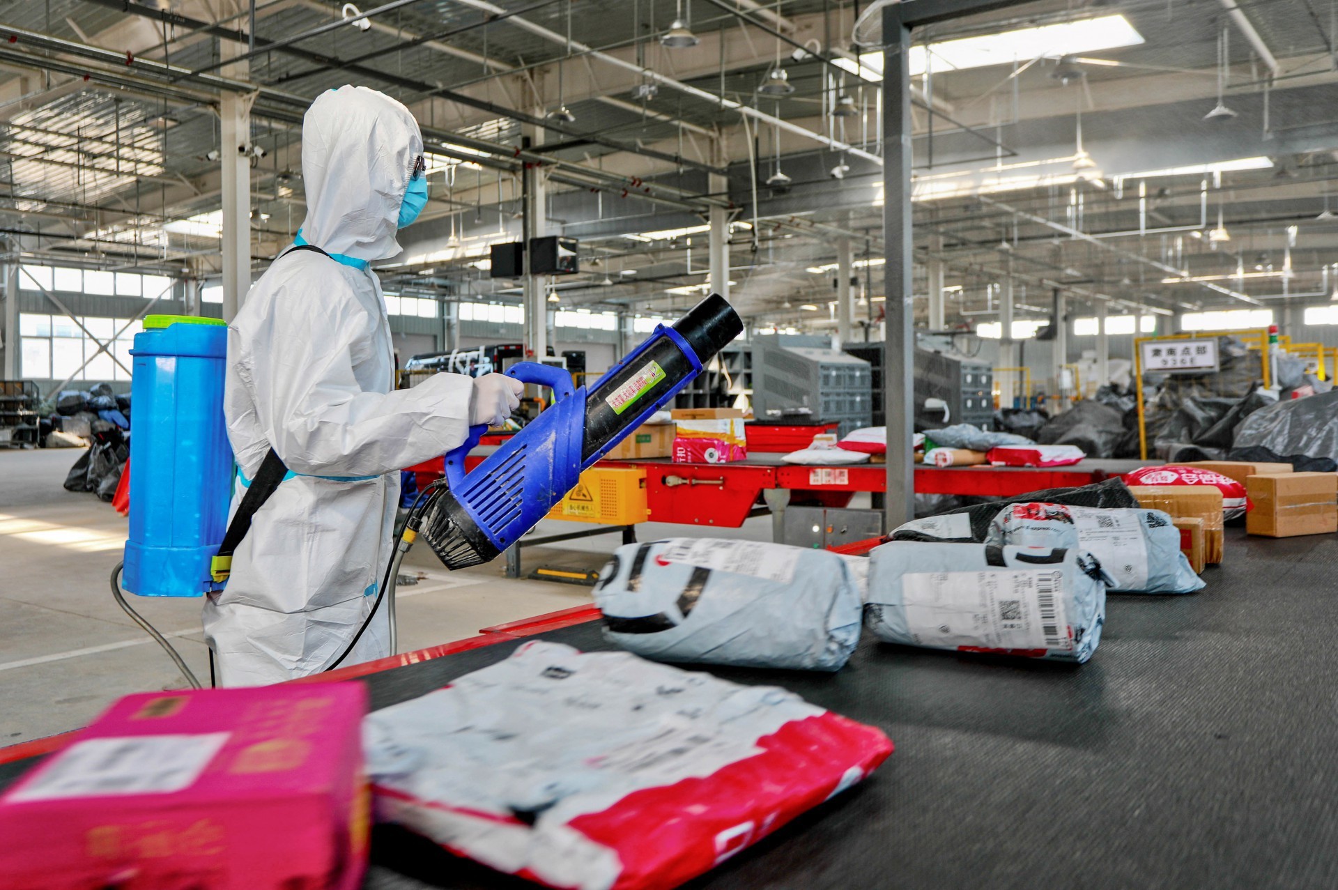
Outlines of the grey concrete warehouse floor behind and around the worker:
{"type": "MultiPolygon", "coordinates": [[[[78,458],[72,448],[0,450],[0,745],[78,728],[131,692],[186,685],[111,598],[108,578],[120,561],[126,519],[95,495],[62,487],[78,458]]],[[[579,527],[546,521],[534,534],[579,527]]],[[[638,537],[654,541],[696,531],[646,523],[638,537]]],[[[710,534],[769,541],[771,521],[755,518],[743,529],[710,534]]],[[[618,541],[609,534],[562,542],[561,550],[527,549],[524,570],[598,569],[618,541]]],[[[401,573],[411,571],[421,580],[399,589],[401,652],[590,602],[587,588],[507,580],[502,559],[450,573],[427,546],[409,551],[401,573]]],[[[198,677],[209,676],[198,600],[131,597],[131,605],[169,636],[198,677]]]]}

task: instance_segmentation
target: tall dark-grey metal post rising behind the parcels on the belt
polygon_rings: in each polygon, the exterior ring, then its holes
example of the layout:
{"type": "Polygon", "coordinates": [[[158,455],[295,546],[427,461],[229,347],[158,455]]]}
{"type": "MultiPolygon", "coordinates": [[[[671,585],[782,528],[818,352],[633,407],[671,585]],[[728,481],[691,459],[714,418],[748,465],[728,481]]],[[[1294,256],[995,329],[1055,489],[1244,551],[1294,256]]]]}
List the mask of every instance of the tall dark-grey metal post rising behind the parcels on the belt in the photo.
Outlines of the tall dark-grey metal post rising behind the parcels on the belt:
{"type": "Polygon", "coordinates": [[[887,527],[915,515],[914,423],[915,352],[911,317],[911,31],[903,4],[883,7],[883,245],[887,264],[887,335],[883,406],[887,412],[887,527]]]}

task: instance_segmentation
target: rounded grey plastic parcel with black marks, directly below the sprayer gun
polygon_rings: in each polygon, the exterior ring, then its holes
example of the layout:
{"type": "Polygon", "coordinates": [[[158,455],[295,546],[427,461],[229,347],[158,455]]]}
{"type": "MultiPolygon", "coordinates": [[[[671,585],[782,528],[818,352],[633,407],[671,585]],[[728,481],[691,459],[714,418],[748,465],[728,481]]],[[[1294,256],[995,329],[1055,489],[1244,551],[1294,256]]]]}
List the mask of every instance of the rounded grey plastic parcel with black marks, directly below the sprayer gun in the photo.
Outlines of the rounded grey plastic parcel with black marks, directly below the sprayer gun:
{"type": "Polygon", "coordinates": [[[601,573],[605,637],[657,661],[838,671],[860,589],[835,553],[756,541],[629,543],[601,573]]]}

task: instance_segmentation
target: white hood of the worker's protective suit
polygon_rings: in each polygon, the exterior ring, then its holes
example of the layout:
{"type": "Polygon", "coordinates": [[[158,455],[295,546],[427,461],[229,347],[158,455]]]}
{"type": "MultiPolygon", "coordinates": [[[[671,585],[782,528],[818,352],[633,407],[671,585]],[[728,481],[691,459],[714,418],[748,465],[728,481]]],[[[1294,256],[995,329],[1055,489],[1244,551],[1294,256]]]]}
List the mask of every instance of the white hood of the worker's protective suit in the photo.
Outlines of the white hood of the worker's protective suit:
{"type": "Polygon", "coordinates": [[[420,154],[423,134],[400,102],[367,87],[322,92],[302,118],[302,237],[357,260],[397,254],[396,221],[420,154]]]}

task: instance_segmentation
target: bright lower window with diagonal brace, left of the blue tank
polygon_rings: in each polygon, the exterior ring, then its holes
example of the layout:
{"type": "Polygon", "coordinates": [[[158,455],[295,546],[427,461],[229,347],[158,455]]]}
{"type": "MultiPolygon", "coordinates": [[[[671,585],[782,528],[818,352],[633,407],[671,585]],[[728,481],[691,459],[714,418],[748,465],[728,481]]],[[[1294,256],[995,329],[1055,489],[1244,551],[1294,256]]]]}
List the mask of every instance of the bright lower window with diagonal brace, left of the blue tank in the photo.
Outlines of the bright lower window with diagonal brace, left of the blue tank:
{"type": "Polygon", "coordinates": [[[107,343],[116,337],[111,348],[128,368],[130,347],[140,329],[139,321],[127,323],[126,319],[82,316],[75,324],[68,316],[23,312],[19,315],[21,373],[24,377],[55,380],[70,375],[75,375],[75,380],[130,380],[130,375],[106,351],[98,351],[98,341],[107,343]],[[88,364],[80,369],[84,359],[88,364]]]}

